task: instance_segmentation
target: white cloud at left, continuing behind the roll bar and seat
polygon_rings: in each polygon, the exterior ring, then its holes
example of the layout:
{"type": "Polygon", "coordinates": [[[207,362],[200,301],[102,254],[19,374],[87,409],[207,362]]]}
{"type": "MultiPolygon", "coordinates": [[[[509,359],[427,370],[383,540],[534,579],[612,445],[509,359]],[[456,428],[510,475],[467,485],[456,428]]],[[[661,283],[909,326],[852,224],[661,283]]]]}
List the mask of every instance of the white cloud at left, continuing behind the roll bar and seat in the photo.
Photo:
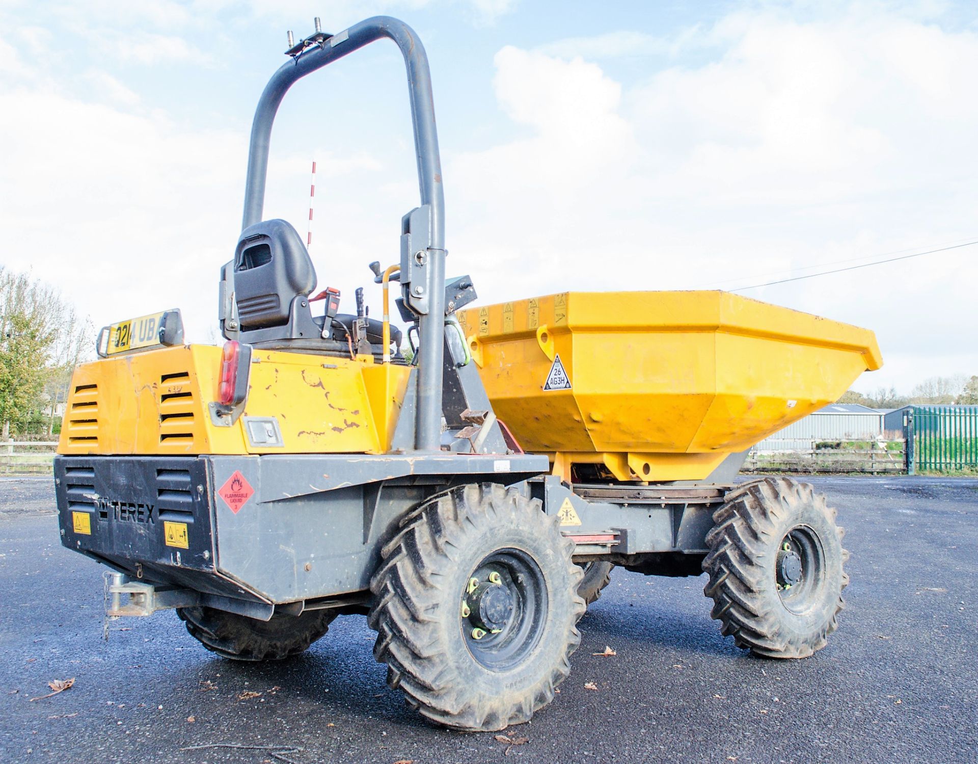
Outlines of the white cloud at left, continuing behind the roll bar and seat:
{"type": "MultiPolygon", "coordinates": [[[[12,147],[0,170],[0,262],[54,284],[96,326],[180,307],[189,338],[216,338],[218,269],[240,229],[246,132],[143,111],[136,94],[102,71],[80,81],[95,89],[84,100],[77,82],[0,87],[0,142],[12,147]]],[[[303,236],[309,156],[286,146],[273,152],[265,206],[267,217],[289,219],[303,236]]],[[[356,194],[348,198],[351,177],[363,176],[361,191],[377,184],[377,157],[325,149],[311,157],[319,164],[313,256],[328,263],[321,286],[349,292],[396,242],[404,209],[381,203],[381,218],[358,209],[356,194]]]]}

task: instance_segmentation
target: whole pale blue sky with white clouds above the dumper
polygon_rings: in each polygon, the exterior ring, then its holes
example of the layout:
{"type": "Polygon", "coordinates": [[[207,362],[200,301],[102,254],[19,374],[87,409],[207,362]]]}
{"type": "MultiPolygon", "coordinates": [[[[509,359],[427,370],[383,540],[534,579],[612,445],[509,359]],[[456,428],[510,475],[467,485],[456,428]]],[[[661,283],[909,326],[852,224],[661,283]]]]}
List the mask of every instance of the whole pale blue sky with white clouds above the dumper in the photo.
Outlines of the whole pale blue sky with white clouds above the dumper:
{"type": "MultiPolygon", "coordinates": [[[[216,340],[287,29],[380,13],[427,49],[449,272],[487,301],[733,289],[978,239],[974,3],[0,0],[0,262],[97,326],[176,306],[216,340]]],[[[286,99],[266,216],[303,234],[313,159],[319,283],[351,299],[417,203],[394,46],[286,99]]],[[[876,330],[887,365],[857,386],[909,389],[978,374],[976,256],[742,293],[876,330]]]]}

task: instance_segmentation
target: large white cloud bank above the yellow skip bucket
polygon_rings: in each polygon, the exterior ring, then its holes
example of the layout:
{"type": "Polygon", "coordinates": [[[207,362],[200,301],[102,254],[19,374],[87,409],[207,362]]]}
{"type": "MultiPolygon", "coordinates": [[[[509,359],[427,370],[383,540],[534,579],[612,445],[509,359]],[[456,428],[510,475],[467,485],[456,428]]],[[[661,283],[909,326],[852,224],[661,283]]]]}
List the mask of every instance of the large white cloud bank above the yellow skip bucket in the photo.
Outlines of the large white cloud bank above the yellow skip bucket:
{"type": "MultiPolygon", "coordinates": [[[[476,277],[485,298],[730,288],[978,235],[974,33],[863,8],[734,15],[701,36],[690,44],[715,49],[703,63],[626,88],[581,58],[500,52],[500,108],[529,135],[455,157],[446,176],[467,187],[449,247],[497,266],[476,277]]],[[[876,330],[892,363],[861,384],[909,387],[920,359],[978,372],[960,341],[975,257],[745,293],[876,330]]]]}

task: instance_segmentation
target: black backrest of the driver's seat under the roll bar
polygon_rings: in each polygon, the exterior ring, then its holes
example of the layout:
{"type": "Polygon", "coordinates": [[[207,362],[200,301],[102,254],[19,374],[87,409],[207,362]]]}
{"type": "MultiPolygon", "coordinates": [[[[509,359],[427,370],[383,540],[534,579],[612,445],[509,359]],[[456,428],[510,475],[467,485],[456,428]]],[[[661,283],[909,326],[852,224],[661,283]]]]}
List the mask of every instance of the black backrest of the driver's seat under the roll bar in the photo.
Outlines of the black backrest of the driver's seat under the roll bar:
{"type": "Polygon", "coordinates": [[[316,287],[316,269],[287,221],[264,220],[238,240],[234,282],[242,330],[268,329],[289,323],[292,300],[316,287]]]}

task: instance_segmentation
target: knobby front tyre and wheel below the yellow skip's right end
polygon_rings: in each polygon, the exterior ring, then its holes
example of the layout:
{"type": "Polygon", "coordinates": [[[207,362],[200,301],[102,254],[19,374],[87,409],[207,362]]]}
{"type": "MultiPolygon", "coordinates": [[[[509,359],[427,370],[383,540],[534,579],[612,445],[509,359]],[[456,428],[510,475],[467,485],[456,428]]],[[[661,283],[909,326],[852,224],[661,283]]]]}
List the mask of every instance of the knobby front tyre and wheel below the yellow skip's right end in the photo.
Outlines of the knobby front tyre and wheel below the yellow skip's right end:
{"type": "Polygon", "coordinates": [[[757,655],[803,658],[835,631],[842,590],[844,531],[808,483],[767,477],[741,485],[713,515],[703,593],[710,615],[737,646],[757,655]]]}

